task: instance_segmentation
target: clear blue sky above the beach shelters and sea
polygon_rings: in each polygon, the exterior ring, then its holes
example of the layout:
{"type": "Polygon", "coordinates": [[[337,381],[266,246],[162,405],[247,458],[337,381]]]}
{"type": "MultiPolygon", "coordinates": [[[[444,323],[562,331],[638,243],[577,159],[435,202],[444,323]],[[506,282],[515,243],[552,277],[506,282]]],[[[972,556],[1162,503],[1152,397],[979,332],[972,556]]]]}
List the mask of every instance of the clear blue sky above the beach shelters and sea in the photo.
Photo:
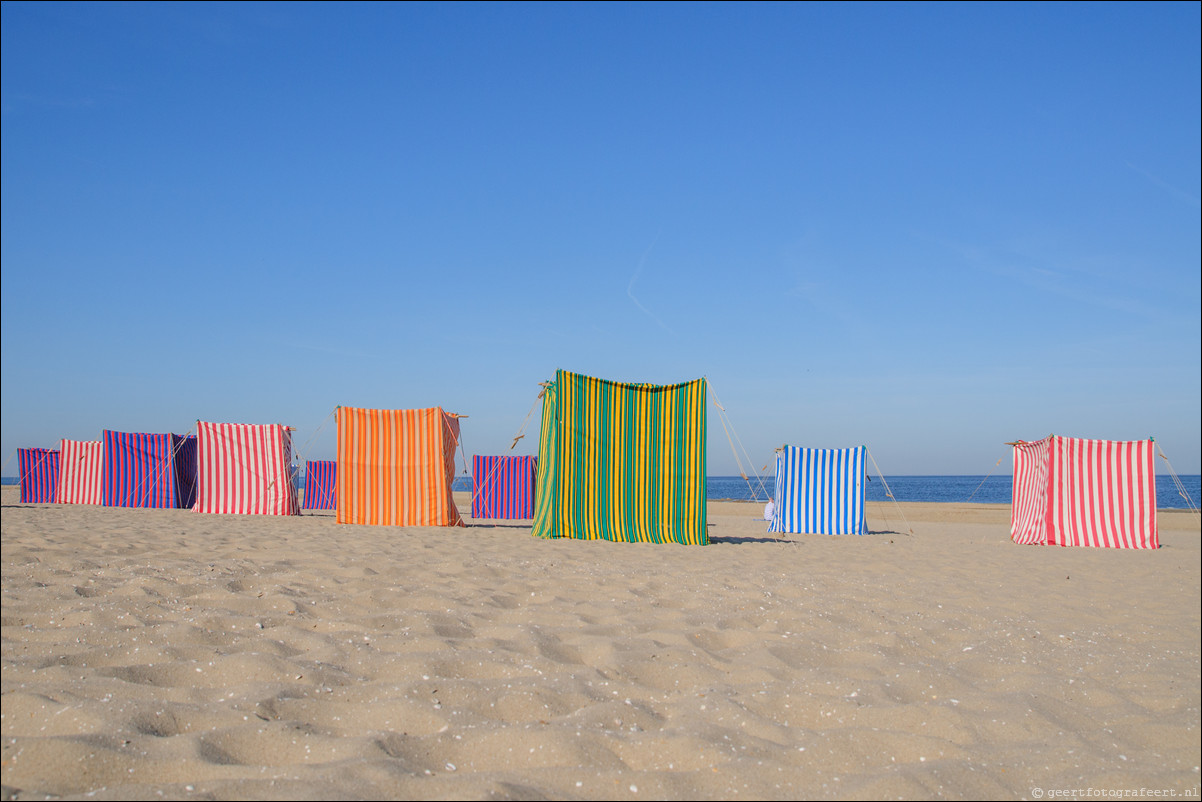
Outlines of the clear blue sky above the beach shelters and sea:
{"type": "Polygon", "coordinates": [[[707,376],[752,468],[1198,473],[1200,8],[5,2],[4,473],[196,420],[333,458],[338,405],[511,453],[557,368],[707,376]]]}

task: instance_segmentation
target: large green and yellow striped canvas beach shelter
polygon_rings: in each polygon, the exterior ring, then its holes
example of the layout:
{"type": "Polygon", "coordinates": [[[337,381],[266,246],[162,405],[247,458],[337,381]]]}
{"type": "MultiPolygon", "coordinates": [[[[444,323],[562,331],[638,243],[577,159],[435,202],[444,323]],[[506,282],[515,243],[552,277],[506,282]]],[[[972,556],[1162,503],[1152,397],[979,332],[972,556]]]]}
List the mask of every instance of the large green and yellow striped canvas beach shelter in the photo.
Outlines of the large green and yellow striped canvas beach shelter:
{"type": "Polygon", "coordinates": [[[706,545],[706,380],[624,384],[559,370],[543,394],[540,537],[706,545]]]}

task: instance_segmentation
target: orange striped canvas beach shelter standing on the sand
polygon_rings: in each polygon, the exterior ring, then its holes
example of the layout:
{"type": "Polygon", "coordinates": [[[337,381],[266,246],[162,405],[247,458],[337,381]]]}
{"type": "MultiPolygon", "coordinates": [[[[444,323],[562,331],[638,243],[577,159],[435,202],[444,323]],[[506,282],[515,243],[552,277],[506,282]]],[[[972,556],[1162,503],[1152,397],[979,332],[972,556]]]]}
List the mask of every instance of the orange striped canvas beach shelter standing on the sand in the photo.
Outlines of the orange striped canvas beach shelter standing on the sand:
{"type": "Polygon", "coordinates": [[[440,406],[340,406],[338,523],[462,527],[451,494],[459,420],[440,406]]]}

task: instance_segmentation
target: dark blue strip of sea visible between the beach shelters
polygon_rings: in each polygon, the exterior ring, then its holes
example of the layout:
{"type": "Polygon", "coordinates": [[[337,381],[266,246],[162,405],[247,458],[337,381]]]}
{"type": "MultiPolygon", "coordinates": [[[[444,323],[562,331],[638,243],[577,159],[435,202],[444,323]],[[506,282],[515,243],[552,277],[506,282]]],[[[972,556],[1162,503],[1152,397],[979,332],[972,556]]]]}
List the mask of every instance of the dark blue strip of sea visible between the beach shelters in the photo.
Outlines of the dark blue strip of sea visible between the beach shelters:
{"type": "MultiPolygon", "coordinates": [[[[1202,506],[1202,475],[1156,476],[1156,507],[1160,510],[1197,510],[1202,506]],[[1183,494],[1184,493],[1184,494],[1183,494]]],[[[4,485],[16,485],[16,476],[2,477],[4,485]]],[[[709,476],[706,494],[712,501],[767,501],[772,494],[772,476],[709,476]]],[[[456,491],[471,492],[471,476],[458,476],[456,491]]],[[[974,504],[1010,504],[1013,492],[1011,476],[880,476],[869,477],[864,498],[869,501],[934,501],[974,504]],[[887,488],[887,489],[886,489],[887,488]]]]}

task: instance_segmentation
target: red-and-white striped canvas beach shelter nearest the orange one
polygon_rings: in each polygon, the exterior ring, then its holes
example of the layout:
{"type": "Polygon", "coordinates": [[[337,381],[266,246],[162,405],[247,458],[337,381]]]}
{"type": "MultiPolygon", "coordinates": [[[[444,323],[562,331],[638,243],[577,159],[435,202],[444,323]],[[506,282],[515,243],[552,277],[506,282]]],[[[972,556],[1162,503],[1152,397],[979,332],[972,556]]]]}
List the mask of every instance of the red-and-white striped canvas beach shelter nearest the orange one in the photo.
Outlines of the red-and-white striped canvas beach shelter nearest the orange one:
{"type": "Polygon", "coordinates": [[[288,427],[200,421],[196,450],[197,512],[297,515],[288,427]]]}

